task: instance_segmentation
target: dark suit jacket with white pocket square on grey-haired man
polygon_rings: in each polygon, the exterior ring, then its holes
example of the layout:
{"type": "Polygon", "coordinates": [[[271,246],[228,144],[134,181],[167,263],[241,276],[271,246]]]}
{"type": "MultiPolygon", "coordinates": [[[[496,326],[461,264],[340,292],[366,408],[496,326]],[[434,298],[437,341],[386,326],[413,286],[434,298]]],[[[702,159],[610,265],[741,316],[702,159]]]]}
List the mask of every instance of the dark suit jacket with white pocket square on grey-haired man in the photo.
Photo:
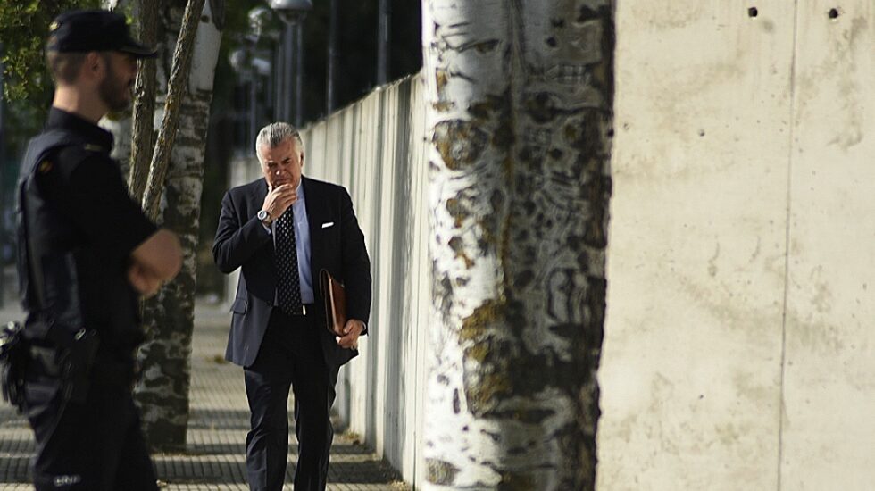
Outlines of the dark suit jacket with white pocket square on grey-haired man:
{"type": "MultiPolygon", "coordinates": [[[[302,177],[302,180],[310,222],[315,322],[325,362],[329,367],[339,367],[358,352],[337,345],[337,340],[325,328],[319,271],[329,270],[345,284],[347,316],[367,322],[371,315],[371,260],[346,189],[315,179],[302,177]],[[322,227],[329,222],[334,224],[322,227]]],[[[237,295],[231,306],[234,313],[225,358],[244,367],[255,361],[276,295],[273,238],[255,217],[262,209],[264,196],[267,196],[267,182],[263,178],[225,193],[221,200],[219,229],[212,245],[212,256],[223,273],[241,269],[237,295]]]]}

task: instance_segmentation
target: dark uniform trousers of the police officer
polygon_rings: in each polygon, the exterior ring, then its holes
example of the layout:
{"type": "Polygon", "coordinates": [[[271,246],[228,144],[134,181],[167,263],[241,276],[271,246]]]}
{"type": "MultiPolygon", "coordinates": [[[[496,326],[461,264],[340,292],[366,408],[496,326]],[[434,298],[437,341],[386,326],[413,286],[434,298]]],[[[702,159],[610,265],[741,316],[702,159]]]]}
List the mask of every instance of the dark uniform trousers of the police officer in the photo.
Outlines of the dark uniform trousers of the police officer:
{"type": "Polygon", "coordinates": [[[130,391],[132,364],[96,363],[84,404],[63,402],[58,379],[31,363],[25,395],[37,440],[37,491],[156,490],[130,391]]]}

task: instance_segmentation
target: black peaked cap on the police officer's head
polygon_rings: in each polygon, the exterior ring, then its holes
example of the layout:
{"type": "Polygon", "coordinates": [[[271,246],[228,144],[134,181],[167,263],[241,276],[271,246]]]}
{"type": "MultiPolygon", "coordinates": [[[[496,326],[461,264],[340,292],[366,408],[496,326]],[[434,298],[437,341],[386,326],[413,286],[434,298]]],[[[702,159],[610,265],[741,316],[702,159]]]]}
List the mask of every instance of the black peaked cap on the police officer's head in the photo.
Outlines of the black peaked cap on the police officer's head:
{"type": "Polygon", "coordinates": [[[49,25],[46,50],[57,53],[121,51],[137,58],[154,58],[157,50],[130,37],[125,18],[105,10],[63,12],[49,25]]]}

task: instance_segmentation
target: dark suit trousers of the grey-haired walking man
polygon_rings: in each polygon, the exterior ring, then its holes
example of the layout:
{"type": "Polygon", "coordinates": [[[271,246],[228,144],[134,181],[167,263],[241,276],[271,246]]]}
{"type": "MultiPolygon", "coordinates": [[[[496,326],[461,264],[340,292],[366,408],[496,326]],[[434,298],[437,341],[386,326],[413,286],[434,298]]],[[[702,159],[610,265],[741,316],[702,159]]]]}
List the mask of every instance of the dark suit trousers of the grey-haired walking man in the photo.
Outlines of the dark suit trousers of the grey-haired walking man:
{"type": "Polygon", "coordinates": [[[295,491],[325,489],[338,370],[326,367],[316,329],[312,316],[289,317],[274,309],[258,356],[245,369],[252,412],[246,474],[253,491],[280,491],[286,478],[289,387],[298,440],[295,491]]]}

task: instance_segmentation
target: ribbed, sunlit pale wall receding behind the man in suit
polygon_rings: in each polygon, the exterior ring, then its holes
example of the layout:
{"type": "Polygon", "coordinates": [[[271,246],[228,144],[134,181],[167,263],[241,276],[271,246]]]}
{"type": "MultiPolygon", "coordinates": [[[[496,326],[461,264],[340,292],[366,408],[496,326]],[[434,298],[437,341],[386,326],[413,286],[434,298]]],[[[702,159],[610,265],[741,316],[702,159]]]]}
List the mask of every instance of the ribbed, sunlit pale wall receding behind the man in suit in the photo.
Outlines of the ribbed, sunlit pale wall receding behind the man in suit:
{"type": "Polygon", "coordinates": [[[374,302],[337,409],[404,479],[419,462],[430,268],[420,79],[384,87],[304,132],[304,173],[344,185],[371,254],[374,302]]]}

